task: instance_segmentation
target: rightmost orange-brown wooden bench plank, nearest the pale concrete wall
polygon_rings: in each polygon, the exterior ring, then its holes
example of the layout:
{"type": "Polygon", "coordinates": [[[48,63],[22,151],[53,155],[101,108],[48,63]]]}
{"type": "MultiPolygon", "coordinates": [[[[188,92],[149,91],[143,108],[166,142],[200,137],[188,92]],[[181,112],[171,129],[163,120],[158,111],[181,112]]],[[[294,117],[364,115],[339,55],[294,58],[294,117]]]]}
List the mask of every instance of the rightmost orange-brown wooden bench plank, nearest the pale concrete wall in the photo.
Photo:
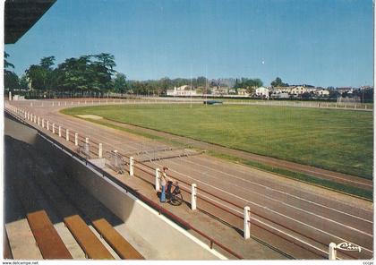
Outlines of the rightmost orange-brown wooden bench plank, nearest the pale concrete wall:
{"type": "Polygon", "coordinates": [[[105,238],[107,244],[115,250],[120,258],[124,260],[144,260],[140,252],[137,252],[106,219],[100,218],[93,221],[92,224],[97,229],[99,235],[105,238]]]}

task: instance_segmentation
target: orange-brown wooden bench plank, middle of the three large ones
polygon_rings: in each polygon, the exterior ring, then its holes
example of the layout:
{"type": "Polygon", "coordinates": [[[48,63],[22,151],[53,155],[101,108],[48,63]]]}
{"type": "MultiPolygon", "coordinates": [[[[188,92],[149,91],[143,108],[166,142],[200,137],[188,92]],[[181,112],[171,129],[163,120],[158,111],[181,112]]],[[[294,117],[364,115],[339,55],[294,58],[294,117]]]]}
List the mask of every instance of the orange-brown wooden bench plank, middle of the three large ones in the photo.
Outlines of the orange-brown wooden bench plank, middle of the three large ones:
{"type": "Polygon", "coordinates": [[[114,260],[114,257],[108,252],[107,248],[78,215],[64,218],[64,223],[88,258],[94,260],[114,260]]]}

